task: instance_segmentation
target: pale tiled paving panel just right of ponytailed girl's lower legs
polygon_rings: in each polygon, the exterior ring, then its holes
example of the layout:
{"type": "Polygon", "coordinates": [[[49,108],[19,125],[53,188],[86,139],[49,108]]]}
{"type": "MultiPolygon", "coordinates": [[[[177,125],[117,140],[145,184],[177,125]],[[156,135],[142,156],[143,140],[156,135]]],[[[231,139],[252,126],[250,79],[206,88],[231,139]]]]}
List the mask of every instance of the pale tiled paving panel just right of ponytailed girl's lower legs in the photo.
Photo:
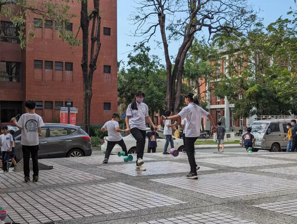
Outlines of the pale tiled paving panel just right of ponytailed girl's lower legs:
{"type": "Polygon", "coordinates": [[[285,160],[271,160],[256,157],[223,157],[223,158],[209,158],[209,159],[199,159],[196,163],[211,163],[223,166],[231,167],[250,167],[250,166],[264,166],[264,165],[276,165],[276,164],[286,164],[295,163],[294,161],[285,160]]]}

